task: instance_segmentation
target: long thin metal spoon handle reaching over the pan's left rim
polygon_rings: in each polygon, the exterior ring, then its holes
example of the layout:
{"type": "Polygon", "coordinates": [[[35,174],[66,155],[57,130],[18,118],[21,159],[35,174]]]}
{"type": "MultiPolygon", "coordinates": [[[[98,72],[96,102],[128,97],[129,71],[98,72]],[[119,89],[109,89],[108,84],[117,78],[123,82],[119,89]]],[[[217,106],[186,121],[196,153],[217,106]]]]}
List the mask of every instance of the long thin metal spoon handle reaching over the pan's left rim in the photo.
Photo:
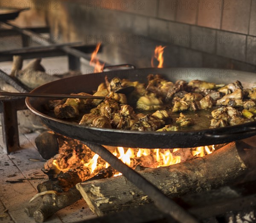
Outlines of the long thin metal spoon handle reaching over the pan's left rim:
{"type": "Polygon", "coordinates": [[[81,98],[81,99],[105,99],[103,96],[65,95],[65,94],[35,94],[0,92],[0,96],[38,97],[38,98],[81,98]]]}

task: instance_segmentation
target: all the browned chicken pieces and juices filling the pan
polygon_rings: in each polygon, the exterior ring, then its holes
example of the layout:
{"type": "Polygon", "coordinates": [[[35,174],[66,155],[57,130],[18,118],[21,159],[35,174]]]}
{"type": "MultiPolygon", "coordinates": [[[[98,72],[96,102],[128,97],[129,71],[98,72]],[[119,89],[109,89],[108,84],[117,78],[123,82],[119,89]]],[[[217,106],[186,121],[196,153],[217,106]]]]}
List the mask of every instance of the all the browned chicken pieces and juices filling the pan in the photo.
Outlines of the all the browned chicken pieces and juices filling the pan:
{"type": "Polygon", "coordinates": [[[256,88],[243,89],[240,81],[227,85],[200,80],[173,83],[161,75],[148,75],[148,83],[143,84],[105,77],[93,95],[105,96],[105,100],[51,100],[47,108],[58,119],[79,125],[138,131],[215,128],[256,120],[256,88]],[[127,86],[135,88],[128,97],[115,93],[127,86]]]}

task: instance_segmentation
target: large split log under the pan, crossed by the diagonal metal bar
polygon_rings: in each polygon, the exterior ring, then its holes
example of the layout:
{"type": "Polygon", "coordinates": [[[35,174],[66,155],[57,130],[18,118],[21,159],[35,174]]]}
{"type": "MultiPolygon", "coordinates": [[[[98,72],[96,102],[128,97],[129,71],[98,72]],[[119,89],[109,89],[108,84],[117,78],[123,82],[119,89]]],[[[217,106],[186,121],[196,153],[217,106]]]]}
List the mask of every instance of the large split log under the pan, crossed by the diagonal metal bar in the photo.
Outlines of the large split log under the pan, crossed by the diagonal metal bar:
{"type": "MultiPolygon", "coordinates": [[[[250,162],[255,155],[253,151],[246,151],[247,156],[244,156],[245,151],[233,142],[207,156],[147,169],[140,174],[168,197],[207,191],[237,179],[251,166],[255,168],[255,163],[250,162]]],[[[148,195],[123,176],[79,183],[76,188],[99,216],[152,202],[148,195]]]]}

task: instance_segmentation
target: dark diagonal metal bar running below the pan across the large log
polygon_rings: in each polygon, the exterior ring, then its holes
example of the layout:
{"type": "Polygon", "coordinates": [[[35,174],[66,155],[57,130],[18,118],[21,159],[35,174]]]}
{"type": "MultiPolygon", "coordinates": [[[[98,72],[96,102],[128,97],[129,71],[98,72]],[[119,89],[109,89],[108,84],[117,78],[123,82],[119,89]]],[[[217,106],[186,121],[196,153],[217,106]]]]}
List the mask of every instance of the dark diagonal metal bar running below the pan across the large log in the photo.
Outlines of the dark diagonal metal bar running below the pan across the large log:
{"type": "Polygon", "coordinates": [[[195,217],[189,214],[185,209],[163,194],[156,186],[146,180],[132,168],[125,165],[120,159],[114,156],[110,151],[101,145],[84,142],[93,152],[99,154],[102,159],[105,159],[113,168],[123,174],[129,181],[134,183],[145,194],[154,201],[155,205],[166,214],[171,215],[180,223],[199,223],[195,217]]]}

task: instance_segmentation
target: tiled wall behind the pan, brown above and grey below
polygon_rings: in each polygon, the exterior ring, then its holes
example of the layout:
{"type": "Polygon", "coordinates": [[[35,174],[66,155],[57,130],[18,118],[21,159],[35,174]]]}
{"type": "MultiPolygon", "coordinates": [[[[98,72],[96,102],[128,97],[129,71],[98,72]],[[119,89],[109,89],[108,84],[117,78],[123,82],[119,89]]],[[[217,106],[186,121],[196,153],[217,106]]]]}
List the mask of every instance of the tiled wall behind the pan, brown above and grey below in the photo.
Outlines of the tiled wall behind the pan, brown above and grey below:
{"type": "Polygon", "coordinates": [[[256,0],[51,2],[43,10],[52,35],[60,42],[102,42],[101,58],[110,64],[150,67],[161,44],[165,67],[256,72],[256,0]]]}

